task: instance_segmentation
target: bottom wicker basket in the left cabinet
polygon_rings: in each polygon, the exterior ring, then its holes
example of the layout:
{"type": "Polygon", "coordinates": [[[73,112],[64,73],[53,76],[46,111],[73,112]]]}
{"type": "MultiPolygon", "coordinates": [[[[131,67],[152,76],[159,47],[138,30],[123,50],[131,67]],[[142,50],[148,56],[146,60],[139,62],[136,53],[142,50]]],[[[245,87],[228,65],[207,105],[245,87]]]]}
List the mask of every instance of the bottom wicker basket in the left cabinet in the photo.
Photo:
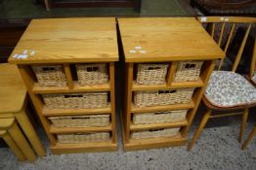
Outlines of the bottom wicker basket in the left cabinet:
{"type": "Polygon", "coordinates": [[[59,143],[105,142],[110,140],[109,132],[75,133],[57,135],[59,143]]]}

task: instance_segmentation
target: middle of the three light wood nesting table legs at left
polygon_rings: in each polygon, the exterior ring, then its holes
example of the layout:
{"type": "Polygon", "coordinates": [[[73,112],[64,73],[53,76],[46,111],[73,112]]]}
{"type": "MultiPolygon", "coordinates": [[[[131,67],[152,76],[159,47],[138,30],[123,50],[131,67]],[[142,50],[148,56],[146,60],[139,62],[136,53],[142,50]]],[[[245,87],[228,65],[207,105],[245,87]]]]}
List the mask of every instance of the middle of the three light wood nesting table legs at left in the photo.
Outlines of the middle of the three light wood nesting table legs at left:
{"type": "Polygon", "coordinates": [[[21,152],[27,158],[28,161],[33,162],[36,159],[36,155],[29,146],[28,142],[24,138],[18,124],[15,122],[12,127],[8,129],[8,133],[14,139],[18,147],[21,149],[21,152]]]}

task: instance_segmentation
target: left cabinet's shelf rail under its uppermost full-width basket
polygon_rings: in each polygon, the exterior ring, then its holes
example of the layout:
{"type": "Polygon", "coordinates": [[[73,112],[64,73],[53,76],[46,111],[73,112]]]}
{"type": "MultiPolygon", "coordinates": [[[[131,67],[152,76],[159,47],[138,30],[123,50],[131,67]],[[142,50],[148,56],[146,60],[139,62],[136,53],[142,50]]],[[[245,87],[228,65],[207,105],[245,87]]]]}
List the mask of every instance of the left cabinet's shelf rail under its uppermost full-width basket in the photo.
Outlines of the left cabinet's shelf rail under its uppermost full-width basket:
{"type": "Polygon", "coordinates": [[[103,115],[110,114],[111,107],[108,104],[107,108],[97,109],[46,109],[44,107],[42,114],[47,117],[53,116],[70,116],[70,115],[103,115]]]}

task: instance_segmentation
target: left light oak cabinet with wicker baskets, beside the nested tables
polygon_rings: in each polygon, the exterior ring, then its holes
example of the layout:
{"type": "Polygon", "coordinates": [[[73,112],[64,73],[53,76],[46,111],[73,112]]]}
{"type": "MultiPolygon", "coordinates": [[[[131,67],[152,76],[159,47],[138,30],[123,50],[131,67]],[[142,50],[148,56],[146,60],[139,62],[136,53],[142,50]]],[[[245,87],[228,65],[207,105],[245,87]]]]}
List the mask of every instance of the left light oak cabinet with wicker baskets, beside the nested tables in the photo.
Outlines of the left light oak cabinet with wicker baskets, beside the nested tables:
{"type": "Polygon", "coordinates": [[[33,19],[9,58],[51,142],[52,153],[117,150],[113,17],[33,19]]]}

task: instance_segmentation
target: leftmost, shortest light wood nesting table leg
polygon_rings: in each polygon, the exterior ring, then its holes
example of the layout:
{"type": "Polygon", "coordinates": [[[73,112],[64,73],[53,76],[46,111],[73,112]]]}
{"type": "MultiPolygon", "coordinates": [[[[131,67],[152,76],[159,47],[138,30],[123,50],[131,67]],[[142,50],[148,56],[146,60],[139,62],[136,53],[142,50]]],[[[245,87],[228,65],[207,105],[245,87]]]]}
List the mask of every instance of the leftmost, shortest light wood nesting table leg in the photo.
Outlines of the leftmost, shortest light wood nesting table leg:
{"type": "Polygon", "coordinates": [[[13,153],[18,157],[18,160],[25,161],[25,157],[23,153],[21,153],[20,148],[17,146],[15,141],[12,139],[12,137],[6,132],[4,135],[1,136],[6,144],[9,146],[9,148],[12,150],[13,153]]]}

